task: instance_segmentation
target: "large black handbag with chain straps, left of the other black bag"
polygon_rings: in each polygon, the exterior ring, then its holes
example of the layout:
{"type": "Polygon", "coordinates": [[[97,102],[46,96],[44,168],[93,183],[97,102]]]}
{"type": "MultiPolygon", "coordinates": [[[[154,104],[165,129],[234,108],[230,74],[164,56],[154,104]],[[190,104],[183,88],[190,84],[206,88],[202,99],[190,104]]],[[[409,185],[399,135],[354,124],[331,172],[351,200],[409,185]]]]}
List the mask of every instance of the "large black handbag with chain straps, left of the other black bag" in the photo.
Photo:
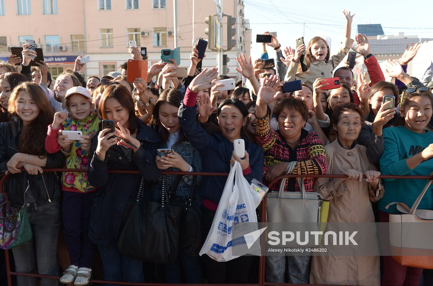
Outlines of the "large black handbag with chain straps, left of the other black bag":
{"type": "Polygon", "coordinates": [[[144,179],[141,179],[136,203],[125,219],[117,241],[120,253],[153,263],[172,263],[178,255],[181,207],[168,204],[162,189],[161,203],[142,201],[144,179]]]}

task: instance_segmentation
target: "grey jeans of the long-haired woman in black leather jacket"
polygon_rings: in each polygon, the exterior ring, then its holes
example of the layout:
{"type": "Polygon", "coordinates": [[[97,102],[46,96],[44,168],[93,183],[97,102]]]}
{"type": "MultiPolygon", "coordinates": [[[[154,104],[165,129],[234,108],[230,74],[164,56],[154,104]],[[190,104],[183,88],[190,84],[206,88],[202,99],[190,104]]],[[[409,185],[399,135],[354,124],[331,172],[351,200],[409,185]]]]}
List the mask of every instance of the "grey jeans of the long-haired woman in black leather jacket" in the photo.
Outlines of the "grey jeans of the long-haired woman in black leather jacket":
{"type": "MultiPolygon", "coordinates": [[[[57,239],[60,229],[60,206],[57,201],[44,205],[26,204],[32,240],[12,249],[15,258],[15,269],[19,273],[34,273],[35,249],[38,273],[41,275],[58,275],[57,239]]],[[[17,276],[18,286],[35,286],[34,277],[17,276]]],[[[57,279],[41,278],[42,286],[57,286],[57,279]]]]}

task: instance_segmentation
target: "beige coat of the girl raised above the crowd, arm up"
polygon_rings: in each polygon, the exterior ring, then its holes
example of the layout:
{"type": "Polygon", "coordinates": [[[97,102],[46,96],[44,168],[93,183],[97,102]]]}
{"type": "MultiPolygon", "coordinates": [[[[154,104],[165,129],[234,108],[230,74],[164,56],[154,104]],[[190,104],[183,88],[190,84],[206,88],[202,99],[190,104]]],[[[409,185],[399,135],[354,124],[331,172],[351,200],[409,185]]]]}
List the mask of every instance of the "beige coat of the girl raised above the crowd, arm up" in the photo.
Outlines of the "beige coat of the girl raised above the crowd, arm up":
{"type": "Polygon", "coordinates": [[[316,78],[332,78],[332,72],[334,68],[339,65],[339,63],[349,52],[350,47],[352,47],[353,40],[349,38],[344,38],[340,42],[340,48],[338,52],[330,57],[329,61],[314,61],[310,64],[310,68],[306,72],[297,72],[299,61],[297,63],[291,62],[290,66],[287,68],[287,73],[284,81],[296,81],[300,79],[302,83],[307,84],[310,88],[313,88],[313,83],[316,78]]]}

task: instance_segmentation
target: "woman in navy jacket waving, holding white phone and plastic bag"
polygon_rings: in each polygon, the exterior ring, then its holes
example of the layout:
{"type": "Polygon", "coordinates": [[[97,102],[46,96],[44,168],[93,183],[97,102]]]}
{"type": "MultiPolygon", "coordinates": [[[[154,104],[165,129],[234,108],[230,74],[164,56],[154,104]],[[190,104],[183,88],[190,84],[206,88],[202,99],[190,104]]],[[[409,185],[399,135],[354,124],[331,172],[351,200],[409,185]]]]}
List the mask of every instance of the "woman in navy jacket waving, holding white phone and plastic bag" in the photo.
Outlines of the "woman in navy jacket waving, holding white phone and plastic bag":
{"type": "MultiPolygon", "coordinates": [[[[262,182],[263,151],[258,145],[249,141],[242,131],[248,117],[248,110],[242,101],[226,99],[218,106],[216,114],[221,127],[221,135],[206,133],[196,120],[197,95],[199,91],[211,88],[214,85],[211,81],[217,75],[216,68],[211,68],[209,71],[205,68],[191,81],[179,109],[179,122],[182,130],[191,144],[199,150],[204,172],[229,172],[230,164],[233,165],[236,160],[240,163],[243,175],[248,182],[251,182],[252,179],[262,182]],[[233,148],[233,141],[241,138],[245,141],[244,159],[236,156],[233,148]]],[[[212,107],[210,101],[206,101],[205,104],[203,98],[204,95],[201,95],[199,108],[207,109],[208,114],[212,113],[216,107],[212,107]]],[[[201,190],[204,239],[210,231],[225,184],[226,178],[224,177],[205,176],[203,178],[201,190]]],[[[216,262],[216,260],[205,256],[204,260],[209,283],[248,282],[252,257],[241,256],[229,262],[216,262]]]]}

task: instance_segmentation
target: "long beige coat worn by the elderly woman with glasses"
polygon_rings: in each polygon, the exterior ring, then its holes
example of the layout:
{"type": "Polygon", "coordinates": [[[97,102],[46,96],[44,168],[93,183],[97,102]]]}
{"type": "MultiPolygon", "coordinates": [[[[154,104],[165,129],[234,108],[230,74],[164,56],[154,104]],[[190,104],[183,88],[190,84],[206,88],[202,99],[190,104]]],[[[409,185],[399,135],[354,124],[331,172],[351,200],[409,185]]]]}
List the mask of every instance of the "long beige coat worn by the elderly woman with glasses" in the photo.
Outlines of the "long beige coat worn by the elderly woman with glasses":
{"type": "MultiPolygon", "coordinates": [[[[346,170],[359,172],[376,170],[368,161],[365,146],[345,149],[335,140],[325,146],[328,158],[328,174],[342,174],[346,170]]],[[[373,192],[365,181],[320,178],[314,183],[314,192],[330,200],[329,222],[375,222],[370,201],[383,197],[384,188],[379,183],[373,192]]],[[[377,241],[371,241],[377,248],[377,241]]],[[[380,285],[379,257],[374,256],[313,256],[310,283],[337,285],[380,285]]]]}

